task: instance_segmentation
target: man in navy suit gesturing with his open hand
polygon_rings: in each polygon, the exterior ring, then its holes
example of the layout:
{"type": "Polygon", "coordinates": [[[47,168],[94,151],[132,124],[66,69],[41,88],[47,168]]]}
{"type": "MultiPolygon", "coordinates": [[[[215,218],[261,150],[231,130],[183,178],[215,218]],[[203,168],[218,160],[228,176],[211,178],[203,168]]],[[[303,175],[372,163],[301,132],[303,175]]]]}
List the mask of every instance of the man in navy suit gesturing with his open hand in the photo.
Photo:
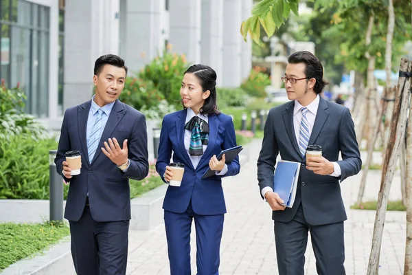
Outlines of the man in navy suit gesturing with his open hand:
{"type": "Polygon", "coordinates": [[[146,118],[117,100],[126,74],[122,58],[100,56],[94,67],[95,95],[67,109],[62,122],[55,163],[70,184],[65,218],[79,275],[126,274],[128,180],[144,179],[149,170],[146,118]],[[71,175],[67,151],[80,151],[80,175],[71,175]]]}

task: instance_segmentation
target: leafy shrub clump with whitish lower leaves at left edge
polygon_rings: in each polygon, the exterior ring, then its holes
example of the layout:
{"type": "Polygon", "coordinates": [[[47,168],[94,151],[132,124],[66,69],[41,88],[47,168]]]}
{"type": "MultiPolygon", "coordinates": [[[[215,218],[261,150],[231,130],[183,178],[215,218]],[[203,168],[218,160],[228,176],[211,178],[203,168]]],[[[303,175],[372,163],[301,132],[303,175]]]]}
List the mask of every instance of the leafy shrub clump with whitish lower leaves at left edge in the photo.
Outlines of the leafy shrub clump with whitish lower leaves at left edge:
{"type": "Polygon", "coordinates": [[[24,113],[25,94],[15,87],[0,87],[0,138],[12,135],[30,135],[38,139],[46,133],[45,127],[34,120],[33,115],[24,113]]]}

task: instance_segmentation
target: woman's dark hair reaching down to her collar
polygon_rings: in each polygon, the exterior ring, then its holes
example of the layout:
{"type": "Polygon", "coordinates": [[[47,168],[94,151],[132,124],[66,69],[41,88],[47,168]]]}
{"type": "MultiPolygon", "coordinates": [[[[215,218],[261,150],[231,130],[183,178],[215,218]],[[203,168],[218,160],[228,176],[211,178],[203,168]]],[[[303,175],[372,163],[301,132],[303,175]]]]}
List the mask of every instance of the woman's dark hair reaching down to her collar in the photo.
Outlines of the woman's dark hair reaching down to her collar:
{"type": "MultiPolygon", "coordinates": [[[[214,69],[207,65],[195,64],[187,68],[185,74],[194,74],[199,80],[202,86],[203,92],[209,90],[210,95],[205,99],[205,104],[199,110],[202,114],[216,114],[218,115],[220,111],[218,110],[217,104],[217,94],[216,94],[216,72],[214,69]]],[[[182,102],[183,104],[183,102],[182,102]]]]}

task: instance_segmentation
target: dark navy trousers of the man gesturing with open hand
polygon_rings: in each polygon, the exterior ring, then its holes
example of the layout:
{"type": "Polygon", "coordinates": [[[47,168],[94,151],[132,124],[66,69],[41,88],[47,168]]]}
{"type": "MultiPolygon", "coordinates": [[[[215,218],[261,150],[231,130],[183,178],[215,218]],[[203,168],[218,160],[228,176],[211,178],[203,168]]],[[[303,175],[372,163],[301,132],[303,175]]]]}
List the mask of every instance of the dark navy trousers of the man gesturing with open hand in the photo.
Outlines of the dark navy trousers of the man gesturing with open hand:
{"type": "Polygon", "coordinates": [[[126,274],[129,221],[98,222],[85,206],[79,221],[69,221],[71,256],[78,275],[126,274]]]}

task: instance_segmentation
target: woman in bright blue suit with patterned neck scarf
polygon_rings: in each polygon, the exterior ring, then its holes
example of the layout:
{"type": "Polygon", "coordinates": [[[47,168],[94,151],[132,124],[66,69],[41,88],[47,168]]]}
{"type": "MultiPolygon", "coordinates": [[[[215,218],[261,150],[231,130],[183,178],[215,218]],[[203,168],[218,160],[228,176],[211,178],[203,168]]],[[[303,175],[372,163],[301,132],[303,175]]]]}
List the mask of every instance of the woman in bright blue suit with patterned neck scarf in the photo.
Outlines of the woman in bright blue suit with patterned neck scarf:
{"type": "Polygon", "coordinates": [[[192,65],[181,84],[184,109],[165,115],[161,127],[156,170],[163,181],[172,179],[173,162],[185,165],[181,186],[169,186],[163,201],[170,274],[190,272],[190,230],[196,228],[197,274],[218,274],[220,240],[226,212],[222,177],[237,175],[239,159],[225,164],[216,155],[236,146],[229,115],[216,104],[216,72],[206,65],[192,65]],[[210,168],[216,175],[202,179],[210,168]]]}

